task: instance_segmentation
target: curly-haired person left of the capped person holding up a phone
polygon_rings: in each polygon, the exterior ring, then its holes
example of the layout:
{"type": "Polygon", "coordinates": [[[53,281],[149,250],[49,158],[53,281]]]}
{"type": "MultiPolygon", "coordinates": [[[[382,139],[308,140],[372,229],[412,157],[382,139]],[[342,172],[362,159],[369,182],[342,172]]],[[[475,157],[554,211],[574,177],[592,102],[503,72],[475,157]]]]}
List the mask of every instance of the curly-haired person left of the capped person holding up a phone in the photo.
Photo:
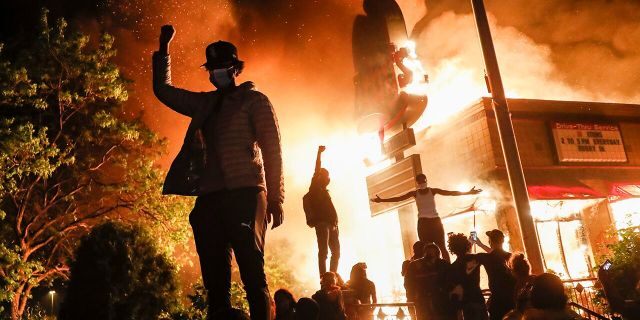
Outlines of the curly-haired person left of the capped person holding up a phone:
{"type": "Polygon", "coordinates": [[[487,306],[480,289],[480,264],[471,254],[471,242],[464,234],[449,235],[449,250],[456,256],[451,264],[449,283],[452,297],[465,320],[487,320],[487,306]]]}

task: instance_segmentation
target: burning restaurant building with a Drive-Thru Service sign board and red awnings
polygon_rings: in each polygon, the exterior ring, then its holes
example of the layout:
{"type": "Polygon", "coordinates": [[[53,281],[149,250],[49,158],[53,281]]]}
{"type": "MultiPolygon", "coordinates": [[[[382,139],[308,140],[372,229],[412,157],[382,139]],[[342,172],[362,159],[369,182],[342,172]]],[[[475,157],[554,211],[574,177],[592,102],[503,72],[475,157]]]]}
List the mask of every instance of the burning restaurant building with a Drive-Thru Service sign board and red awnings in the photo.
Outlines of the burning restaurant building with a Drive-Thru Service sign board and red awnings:
{"type": "MultiPolygon", "coordinates": [[[[544,267],[592,276],[608,232],[640,225],[640,105],[509,99],[544,267]]],[[[442,198],[445,231],[498,228],[524,251],[488,98],[417,135],[429,184],[480,196],[442,198]]]]}

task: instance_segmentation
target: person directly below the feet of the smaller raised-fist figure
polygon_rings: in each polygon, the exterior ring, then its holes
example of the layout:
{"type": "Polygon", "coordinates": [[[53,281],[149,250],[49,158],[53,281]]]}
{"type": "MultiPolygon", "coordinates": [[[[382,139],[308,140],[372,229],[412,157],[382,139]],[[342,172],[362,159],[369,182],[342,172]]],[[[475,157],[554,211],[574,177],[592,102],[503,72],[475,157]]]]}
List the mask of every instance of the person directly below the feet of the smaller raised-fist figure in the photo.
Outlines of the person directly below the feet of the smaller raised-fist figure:
{"type": "Polygon", "coordinates": [[[344,301],[340,287],[336,284],[336,274],[325,272],[320,280],[320,290],[313,296],[320,308],[320,320],[346,320],[344,301]]]}

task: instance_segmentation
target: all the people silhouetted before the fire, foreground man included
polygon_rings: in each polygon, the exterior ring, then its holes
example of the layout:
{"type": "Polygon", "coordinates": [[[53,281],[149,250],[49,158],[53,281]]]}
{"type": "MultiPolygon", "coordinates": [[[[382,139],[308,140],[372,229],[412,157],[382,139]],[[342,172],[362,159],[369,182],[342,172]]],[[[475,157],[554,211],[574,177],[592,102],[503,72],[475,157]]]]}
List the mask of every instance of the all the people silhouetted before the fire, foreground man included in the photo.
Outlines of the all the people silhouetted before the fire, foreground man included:
{"type": "MultiPolygon", "coordinates": [[[[165,178],[163,194],[195,196],[189,222],[208,292],[208,319],[243,319],[231,308],[231,257],[240,269],[252,320],[366,319],[376,303],[375,285],[366,264],[353,266],[343,283],[336,273],[340,258],[338,214],[327,187],[329,171],[321,166],[324,146],[318,147],[315,172],[303,198],[307,224],[315,228],[321,287],[311,298],[296,301],[286,290],[273,298],[264,272],[264,242],[268,224],[284,221],[284,171],[277,117],[268,97],[247,81],[236,83],[244,70],[237,48],[216,41],[205,50],[202,65],[216,90],[193,92],[171,80],[170,44],[175,28],[162,26],[158,51],[153,54],[153,91],[166,106],[191,118],[180,152],[165,178]],[[329,250],[329,271],[326,260],[329,250]],[[270,304],[271,302],[271,304],[270,304]],[[275,310],[275,314],[274,314],[275,310]],[[362,314],[364,310],[364,314],[362,314]]],[[[407,300],[419,319],[574,319],[566,308],[562,282],[552,274],[533,277],[522,255],[502,249],[504,235],[487,233],[489,246],[477,237],[450,234],[448,245],[435,196],[465,196],[482,192],[432,188],[424,174],[415,190],[392,198],[376,195],[373,202],[410,198],[418,209],[415,255],[403,264],[407,300]],[[473,244],[486,253],[472,254],[473,244]],[[456,259],[450,263],[449,252],[456,259]],[[490,298],[480,289],[480,266],[489,278],[490,298]]],[[[371,318],[369,318],[371,319],[371,318]]]]}

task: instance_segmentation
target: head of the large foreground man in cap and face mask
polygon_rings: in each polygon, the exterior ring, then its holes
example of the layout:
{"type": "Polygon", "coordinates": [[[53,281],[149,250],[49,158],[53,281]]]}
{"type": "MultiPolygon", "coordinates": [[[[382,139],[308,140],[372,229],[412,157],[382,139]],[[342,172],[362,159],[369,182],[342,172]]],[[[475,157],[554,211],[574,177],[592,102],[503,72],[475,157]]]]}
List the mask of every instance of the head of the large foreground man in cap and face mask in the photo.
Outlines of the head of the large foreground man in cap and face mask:
{"type": "Polygon", "coordinates": [[[207,62],[202,66],[209,71],[209,81],[218,89],[235,86],[235,78],[244,69],[238,59],[238,49],[231,42],[216,41],[205,50],[207,62]]]}

